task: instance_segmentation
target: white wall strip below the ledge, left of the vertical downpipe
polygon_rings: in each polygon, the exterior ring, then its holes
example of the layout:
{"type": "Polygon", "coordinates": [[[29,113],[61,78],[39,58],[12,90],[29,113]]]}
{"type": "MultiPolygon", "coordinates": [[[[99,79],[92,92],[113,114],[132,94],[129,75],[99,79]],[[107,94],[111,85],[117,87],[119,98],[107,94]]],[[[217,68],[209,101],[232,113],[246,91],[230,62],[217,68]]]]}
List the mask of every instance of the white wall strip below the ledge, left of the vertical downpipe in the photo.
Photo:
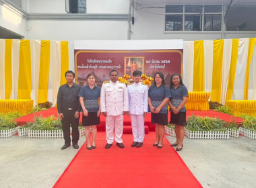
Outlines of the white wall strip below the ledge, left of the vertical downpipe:
{"type": "Polygon", "coordinates": [[[28,21],[28,38],[38,40],[126,40],[127,21],[28,21]]]}

